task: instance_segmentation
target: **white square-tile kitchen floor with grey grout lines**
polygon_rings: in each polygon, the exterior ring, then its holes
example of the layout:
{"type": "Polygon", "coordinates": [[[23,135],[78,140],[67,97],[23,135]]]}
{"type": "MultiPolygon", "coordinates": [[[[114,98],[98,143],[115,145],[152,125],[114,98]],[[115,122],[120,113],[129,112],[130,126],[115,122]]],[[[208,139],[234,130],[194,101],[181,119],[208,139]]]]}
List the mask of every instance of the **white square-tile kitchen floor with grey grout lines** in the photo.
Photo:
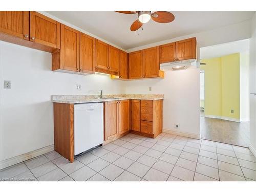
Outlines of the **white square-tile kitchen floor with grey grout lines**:
{"type": "Polygon", "coordinates": [[[56,152],[0,170],[11,181],[255,181],[248,148],[162,133],[129,134],[77,157],[56,152]]]}

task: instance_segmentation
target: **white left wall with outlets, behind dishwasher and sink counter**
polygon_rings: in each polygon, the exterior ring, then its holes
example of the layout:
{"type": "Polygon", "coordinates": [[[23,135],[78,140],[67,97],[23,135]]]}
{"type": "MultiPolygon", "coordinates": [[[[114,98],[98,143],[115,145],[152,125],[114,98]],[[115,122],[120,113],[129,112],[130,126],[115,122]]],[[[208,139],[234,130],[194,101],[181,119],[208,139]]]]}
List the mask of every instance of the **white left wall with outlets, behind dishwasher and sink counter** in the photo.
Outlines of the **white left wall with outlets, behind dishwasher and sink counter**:
{"type": "Polygon", "coordinates": [[[0,161],[53,144],[51,95],[124,92],[123,81],[109,75],[52,72],[51,63],[50,53],[0,41],[0,161]]]}

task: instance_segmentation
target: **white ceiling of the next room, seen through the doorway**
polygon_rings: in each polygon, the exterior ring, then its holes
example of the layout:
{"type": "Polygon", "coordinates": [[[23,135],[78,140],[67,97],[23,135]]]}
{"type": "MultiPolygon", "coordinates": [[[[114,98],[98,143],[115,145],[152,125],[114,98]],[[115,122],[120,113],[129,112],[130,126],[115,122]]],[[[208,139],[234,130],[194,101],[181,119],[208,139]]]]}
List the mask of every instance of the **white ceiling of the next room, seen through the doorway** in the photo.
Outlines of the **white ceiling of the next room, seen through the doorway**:
{"type": "Polygon", "coordinates": [[[200,48],[200,59],[221,57],[232,53],[249,52],[249,39],[200,48]]]}

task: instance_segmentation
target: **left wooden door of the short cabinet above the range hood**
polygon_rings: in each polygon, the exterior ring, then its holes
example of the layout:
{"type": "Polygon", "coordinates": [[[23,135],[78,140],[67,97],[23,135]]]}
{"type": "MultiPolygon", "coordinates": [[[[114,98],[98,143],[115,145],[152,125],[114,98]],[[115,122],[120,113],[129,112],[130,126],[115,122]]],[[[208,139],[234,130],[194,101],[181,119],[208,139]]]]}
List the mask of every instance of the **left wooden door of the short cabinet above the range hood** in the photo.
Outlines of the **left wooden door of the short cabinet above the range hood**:
{"type": "Polygon", "coordinates": [[[176,44],[172,42],[159,46],[160,63],[176,61],[176,44]]]}

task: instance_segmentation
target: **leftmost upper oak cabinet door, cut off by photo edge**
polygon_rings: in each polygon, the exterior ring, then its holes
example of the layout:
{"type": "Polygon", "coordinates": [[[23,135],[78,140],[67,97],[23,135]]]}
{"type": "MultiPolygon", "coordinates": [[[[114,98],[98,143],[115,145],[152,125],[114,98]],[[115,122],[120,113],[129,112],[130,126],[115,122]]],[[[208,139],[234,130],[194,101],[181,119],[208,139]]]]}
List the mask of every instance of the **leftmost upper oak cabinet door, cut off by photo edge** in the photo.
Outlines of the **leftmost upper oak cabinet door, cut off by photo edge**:
{"type": "Polygon", "coordinates": [[[0,11],[0,32],[29,40],[29,11],[0,11]]]}

